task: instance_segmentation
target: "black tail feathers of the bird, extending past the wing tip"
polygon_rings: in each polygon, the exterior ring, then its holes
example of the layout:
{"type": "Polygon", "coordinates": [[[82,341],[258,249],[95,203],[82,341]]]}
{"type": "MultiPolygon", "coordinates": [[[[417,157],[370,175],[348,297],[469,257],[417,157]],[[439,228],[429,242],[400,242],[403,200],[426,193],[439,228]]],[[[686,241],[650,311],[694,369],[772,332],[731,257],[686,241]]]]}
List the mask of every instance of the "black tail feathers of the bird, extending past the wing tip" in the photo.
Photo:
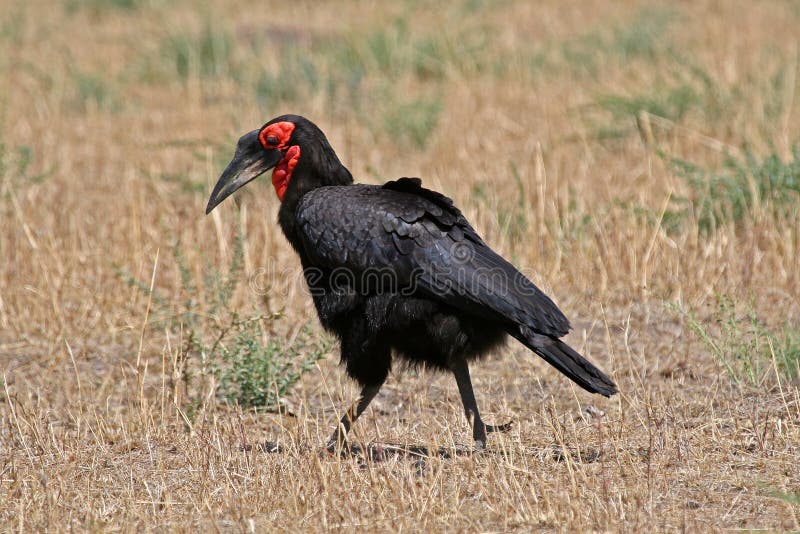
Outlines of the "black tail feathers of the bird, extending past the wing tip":
{"type": "Polygon", "coordinates": [[[521,326],[518,332],[510,333],[586,391],[606,397],[617,392],[613,380],[561,340],[537,334],[525,326],[521,326]]]}

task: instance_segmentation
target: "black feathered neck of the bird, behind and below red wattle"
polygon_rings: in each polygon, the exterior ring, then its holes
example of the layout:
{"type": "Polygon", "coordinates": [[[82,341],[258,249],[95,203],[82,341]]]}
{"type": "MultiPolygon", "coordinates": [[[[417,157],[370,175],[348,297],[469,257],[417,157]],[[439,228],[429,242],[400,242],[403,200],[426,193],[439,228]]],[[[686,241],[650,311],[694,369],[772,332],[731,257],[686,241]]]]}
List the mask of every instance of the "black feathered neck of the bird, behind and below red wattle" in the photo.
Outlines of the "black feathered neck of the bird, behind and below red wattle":
{"type": "Polygon", "coordinates": [[[353,176],[331,150],[322,156],[301,154],[278,211],[278,223],[292,247],[300,252],[301,236],[296,211],[303,196],[309,191],[331,185],[351,185],[353,176]],[[310,156],[310,157],[306,157],[310,156]]]}

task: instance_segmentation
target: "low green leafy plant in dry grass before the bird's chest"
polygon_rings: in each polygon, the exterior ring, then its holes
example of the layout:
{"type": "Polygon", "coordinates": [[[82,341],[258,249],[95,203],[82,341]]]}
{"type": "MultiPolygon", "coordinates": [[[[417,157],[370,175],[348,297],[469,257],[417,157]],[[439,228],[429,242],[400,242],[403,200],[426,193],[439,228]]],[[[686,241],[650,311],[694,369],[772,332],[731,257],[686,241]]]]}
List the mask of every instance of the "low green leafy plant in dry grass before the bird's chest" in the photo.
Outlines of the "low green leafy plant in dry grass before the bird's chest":
{"type": "MultiPolygon", "coordinates": [[[[252,310],[242,316],[232,309],[231,299],[243,275],[241,234],[227,271],[206,265],[201,283],[180,241],[170,238],[180,287],[172,298],[153,291],[151,324],[180,332],[184,340],[178,370],[187,393],[187,413],[196,411],[210,387],[227,402],[277,409],[281,397],[329,352],[330,342],[304,329],[286,344],[272,333],[280,313],[252,310]]],[[[129,285],[149,293],[149,284],[123,271],[119,274],[129,285]]]]}

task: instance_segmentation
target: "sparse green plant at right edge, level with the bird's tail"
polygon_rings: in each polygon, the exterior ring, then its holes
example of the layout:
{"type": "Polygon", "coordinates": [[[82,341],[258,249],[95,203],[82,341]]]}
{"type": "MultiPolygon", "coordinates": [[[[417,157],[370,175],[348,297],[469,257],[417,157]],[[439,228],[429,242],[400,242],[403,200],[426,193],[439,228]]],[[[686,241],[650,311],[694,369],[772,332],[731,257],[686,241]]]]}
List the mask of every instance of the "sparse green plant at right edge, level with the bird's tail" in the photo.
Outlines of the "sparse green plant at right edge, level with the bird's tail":
{"type": "Polygon", "coordinates": [[[737,385],[759,386],[773,371],[787,380],[800,376],[800,326],[785,325],[775,332],[759,319],[752,305],[742,305],[727,295],[717,297],[708,322],[683,308],[673,308],[737,385]]]}

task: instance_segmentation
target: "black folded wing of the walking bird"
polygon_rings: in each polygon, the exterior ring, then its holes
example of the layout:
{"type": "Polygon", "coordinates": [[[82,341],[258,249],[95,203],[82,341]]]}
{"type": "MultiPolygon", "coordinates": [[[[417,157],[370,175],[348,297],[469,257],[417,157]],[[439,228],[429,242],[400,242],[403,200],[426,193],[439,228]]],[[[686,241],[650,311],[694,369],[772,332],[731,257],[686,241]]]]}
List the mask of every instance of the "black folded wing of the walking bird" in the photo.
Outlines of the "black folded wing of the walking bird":
{"type": "Polygon", "coordinates": [[[296,215],[315,265],[356,276],[388,270],[399,287],[478,316],[553,337],[570,329],[547,295],[490,249],[449,198],[418,178],[322,187],[302,198],[296,215]]]}

